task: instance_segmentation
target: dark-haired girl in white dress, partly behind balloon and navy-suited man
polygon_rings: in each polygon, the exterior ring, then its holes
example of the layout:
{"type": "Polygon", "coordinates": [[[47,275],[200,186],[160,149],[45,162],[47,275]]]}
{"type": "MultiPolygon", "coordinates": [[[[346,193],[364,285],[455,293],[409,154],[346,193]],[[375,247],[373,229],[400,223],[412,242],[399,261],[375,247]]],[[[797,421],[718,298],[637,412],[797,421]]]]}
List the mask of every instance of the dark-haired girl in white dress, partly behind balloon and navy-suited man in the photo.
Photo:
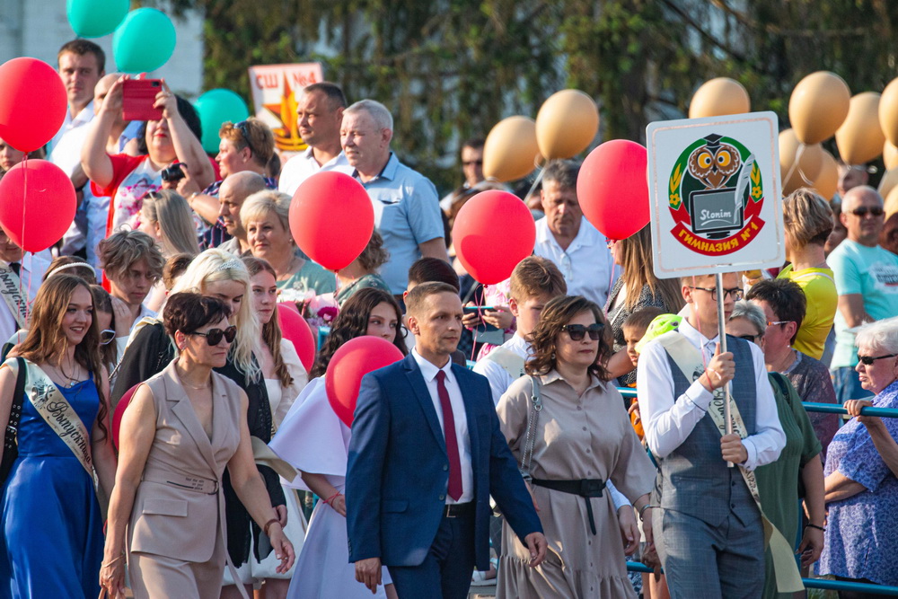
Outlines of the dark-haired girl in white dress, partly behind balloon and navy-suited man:
{"type": "Polygon", "coordinates": [[[395,597],[392,579],[383,568],[383,587],[372,595],[356,581],[356,569],[349,563],[346,533],[346,462],[351,432],[330,408],[324,390],[324,374],[330,358],[349,339],[373,335],[391,341],[403,355],[408,351],[402,340],[402,313],[386,291],[374,287],[359,289],[343,304],[330,328],[312,369],[314,378],[296,399],[270,447],[281,458],[302,471],[291,486],[311,490],[321,500],[315,506],[303,550],[287,597],[290,599],[362,599],[395,597]]]}

